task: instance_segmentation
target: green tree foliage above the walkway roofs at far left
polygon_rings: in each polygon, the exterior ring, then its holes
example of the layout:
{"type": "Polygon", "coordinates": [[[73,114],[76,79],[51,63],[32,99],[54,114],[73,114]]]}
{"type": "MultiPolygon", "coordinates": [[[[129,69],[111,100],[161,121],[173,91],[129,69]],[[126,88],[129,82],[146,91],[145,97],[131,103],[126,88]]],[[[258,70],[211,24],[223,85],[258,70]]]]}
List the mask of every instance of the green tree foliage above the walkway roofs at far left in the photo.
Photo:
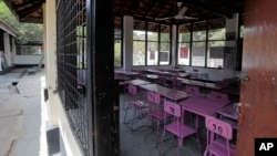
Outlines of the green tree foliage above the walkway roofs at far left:
{"type": "Polygon", "coordinates": [[[18,33],[16,42],[19,44],[24,44],[28,41],[43,41],[42,24],[20,23],[2,0],[0,0],[0,21],[8,23],[16,30],[18,33]]]}

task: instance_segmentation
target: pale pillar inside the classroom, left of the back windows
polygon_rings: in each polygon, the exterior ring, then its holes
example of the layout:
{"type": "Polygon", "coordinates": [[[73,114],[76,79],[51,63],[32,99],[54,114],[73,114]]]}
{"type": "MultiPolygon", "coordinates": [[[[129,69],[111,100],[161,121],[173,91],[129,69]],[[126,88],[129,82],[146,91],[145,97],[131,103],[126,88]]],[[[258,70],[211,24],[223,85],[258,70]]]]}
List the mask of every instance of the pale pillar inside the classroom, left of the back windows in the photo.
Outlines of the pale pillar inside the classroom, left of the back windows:
{"type": "Polygon", "coordinates": [[[131,71],[133,67],[133,17],[123,17],[123,69],[131,71]]]}

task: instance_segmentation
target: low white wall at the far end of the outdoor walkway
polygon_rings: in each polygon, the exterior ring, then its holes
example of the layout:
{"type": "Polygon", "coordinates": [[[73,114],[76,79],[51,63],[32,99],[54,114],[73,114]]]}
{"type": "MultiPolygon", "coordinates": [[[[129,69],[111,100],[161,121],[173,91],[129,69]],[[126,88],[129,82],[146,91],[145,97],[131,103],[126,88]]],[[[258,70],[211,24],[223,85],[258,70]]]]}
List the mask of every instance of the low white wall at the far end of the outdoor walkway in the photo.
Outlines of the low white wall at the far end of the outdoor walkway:
{"type": "Polygon", "coordinates": [[[14,64],[17,65],[39,64],[42,55],[14,55],[14,64]]]}

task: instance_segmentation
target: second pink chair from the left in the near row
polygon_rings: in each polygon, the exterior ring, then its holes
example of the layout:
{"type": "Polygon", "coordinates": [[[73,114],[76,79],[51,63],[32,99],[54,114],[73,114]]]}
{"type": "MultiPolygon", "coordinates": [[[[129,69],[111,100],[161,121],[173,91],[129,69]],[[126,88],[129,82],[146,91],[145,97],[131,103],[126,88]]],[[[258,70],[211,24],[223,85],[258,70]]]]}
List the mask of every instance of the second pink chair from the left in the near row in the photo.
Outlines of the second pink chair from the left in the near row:
{"type": "MultiPolygon", "coordinates": [[[[147,92],[146,95],[147,95],[147,102],[150,103],[148,117],[150,119],[156,122],[155,123],[156,135],[158,135],[160,125],[162,124],[163,121],[171,117],[172,115],[167,115],[167,116],[165,115],[162,98],[160,94],[147,92]]],[[[150,134],[145,135],[144,141],[146,139],[146,136],[148,136],[150,134]]]]}

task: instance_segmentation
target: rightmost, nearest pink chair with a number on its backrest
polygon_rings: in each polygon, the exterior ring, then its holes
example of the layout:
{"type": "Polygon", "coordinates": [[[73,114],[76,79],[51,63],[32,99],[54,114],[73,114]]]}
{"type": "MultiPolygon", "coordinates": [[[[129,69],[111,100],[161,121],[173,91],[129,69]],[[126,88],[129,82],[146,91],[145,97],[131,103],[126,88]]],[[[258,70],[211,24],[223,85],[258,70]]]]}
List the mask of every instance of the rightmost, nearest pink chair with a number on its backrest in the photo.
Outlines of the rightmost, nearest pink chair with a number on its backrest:
{"type": "Polygon", "coordinates": [[[229,143],[233,136],[230,124],[213,116],[207,116],[205,118],[205,125],[207,128],[207,146],[204,156],[207,156],[207,154],[216,156],[234,156],[235,147],[229,143]]]}

